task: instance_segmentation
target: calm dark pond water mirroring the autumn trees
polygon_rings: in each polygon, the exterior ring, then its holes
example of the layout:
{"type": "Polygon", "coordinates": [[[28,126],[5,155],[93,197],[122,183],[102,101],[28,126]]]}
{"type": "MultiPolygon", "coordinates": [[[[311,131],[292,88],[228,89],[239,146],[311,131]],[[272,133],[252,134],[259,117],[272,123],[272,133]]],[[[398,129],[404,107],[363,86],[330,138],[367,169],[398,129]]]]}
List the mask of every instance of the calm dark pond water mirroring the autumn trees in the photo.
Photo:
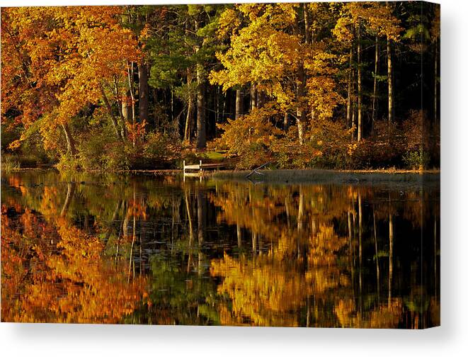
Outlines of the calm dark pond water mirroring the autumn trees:
{"type": "Polygon", "coordinates": [[[1,320],[440,324],[440,191],[177,176],[1,178],[1,320]]]}

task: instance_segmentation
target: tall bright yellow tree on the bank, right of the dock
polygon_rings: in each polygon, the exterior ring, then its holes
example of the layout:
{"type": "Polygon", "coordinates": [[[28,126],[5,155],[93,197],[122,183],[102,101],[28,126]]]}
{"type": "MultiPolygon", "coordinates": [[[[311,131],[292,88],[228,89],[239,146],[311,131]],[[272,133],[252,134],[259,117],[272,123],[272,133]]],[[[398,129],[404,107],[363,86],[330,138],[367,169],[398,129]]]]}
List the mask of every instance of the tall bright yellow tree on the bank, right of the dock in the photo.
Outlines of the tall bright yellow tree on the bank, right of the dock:
{"type": "Polygon", "coordinates": [[[232,32],[229,49],[217,54],[224,69],[210,77],[224,91],[250,84],[252,108],[266,97],[283,113],[295,113],[299,144],[305,135],[306,103],[321,118],[329,118],[336,106],[328,67],[333,56],[324,52],[319,41],[309,43],[309,26],[307,31],[299,26],[304,13],[309,8],[297,4],[246,4],[226,11],[221,28],[233,18],[241,20],[236,22],[239,28],[232,32]]]}

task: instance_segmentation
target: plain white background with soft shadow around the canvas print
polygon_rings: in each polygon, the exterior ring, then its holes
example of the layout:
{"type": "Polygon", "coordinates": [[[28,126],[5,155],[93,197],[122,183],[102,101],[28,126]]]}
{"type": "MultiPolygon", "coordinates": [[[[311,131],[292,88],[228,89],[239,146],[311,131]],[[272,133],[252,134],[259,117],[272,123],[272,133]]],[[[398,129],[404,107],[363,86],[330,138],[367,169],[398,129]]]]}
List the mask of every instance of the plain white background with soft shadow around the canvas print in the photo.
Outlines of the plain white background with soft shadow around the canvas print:
{"type": "MultiPolygon", "coordinates": [[[[161,0],[4,0],[1,5],[130,2],[161,4],[161,0]]],[[[468,222],[468,1],[438,2],[442,5],[442,327],[406,331],[3,323],[0,355],[468,356],[468,234],[464,230],[468,222]]]]}

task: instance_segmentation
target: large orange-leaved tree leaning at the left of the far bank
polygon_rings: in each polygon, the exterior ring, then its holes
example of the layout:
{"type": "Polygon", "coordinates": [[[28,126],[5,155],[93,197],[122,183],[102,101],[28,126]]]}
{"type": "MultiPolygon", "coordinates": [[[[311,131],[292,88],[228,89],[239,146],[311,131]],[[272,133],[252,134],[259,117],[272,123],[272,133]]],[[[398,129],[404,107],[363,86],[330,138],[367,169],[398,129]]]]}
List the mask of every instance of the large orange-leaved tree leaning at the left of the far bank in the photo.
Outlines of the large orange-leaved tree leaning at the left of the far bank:
{"type": "MultiPolygon", "coordinates": [[[[8,28],[5,42],[15,43],[21,53],[18,60],[28,66],[28,77],[20,75],[19,80],[28,83],[34,93],[34,97],[24,98],[15,106],[19,113],[25,113],[35,101],[47,103],[34,116],[23,118],[23,124],[42,119],[41,131],[49,145],[54,143],[47,137],[47,130],[61,126],[68,150],[75,154],[74,138],[68,127],[71,118],[89,104],[103,100],[115,135],[122,139],[106,91],[113,81],[125,76],[125,61],[139,57],[135,39],[118,22],[122,8],[82,6],[42,10],[9,8],[2,12],[8,28]],[[34,21],[29,21],[30,18],[34,21]]],[[[18,80],[18,70],[8,73],[18,80]]],[[[7,91],[21,89],[16,81],[7,83],[11,85],[7,91]]]]}

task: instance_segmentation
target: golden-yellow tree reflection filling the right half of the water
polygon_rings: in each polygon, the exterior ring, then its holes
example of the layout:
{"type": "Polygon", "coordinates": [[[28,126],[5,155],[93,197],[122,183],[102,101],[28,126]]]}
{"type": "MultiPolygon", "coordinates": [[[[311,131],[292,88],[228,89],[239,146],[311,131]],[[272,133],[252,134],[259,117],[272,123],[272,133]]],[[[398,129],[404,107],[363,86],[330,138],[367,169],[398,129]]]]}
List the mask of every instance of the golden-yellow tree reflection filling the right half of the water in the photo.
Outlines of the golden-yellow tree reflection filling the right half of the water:
{"type": "MultiPolygon", "coordinates": [[[[406,314],[414,311],[409,316],[412,322],[406,327],[428,326],[418,319],[427,320],[426,315],[433,314],[430,309],[437,307],[422,304],[412,293],[421,288],[422,282],[401,285],[406,271],[394,269],[396,259],[409,258],[416,263],[421,250],[414,239],[421,239],[422,227],[418,224],[425,224],[433,211],[411,221],[412,229],[404,227],[406,238],[413,237],[413,242],[407,239],[406,247],[399,246],[396,257],[394,216],[407,226],[400,217],[411,217],[424,197],[414,200],[410,192],[413,202],[408,202],[399,192],[385,198],[370,188],[355,186],[268,187],[265,193],[256,186],[246,189],[226,185],[229,187],[221,194],[212,196],[213,203],[222,208],[218,221],[250,230],[252,246],[256,237],[263,237],[270,242],[270,248],[263,259],[256,257],[253,249],[251,256],[224,254],[222,259],[212,260],[212,276],[223,278],[218,286],[218,293],[224,296],[220,307],[223,324],[388,328],[403,326],[404,319],[408,319],[406,314]],[[393,197],[396,194],[398,199],[393,197]],[[385,224],[385,215],[386,242],[384,235],[377,235],[377,227],[385,224]],[[297,225],[292,225],[293,221],[297,225]],[[387,248],[379,251],[379,246],[387,248]],[[382,256],[388,257],[386,288],[382,286],[380,271],[382,256]],[[396,294],[395,274],[399,276],[396,294]],[[380,299],[381,290],[387,290],[385,302],[380,299]],[[414,305],[421,309],[416,310],[414,305]],[[333,314],[324,314],[330,309],[333,314]]],[[[411,271],[421,272],[423,268],[416,263],[411,271]]],[[[424,296],[428,296],[428,290],[435,294],[434,282],[428,281],[423,290],[424,296]]],[[[437,324],[438,319],[429,324],[432,323],[437,324]]]]}

